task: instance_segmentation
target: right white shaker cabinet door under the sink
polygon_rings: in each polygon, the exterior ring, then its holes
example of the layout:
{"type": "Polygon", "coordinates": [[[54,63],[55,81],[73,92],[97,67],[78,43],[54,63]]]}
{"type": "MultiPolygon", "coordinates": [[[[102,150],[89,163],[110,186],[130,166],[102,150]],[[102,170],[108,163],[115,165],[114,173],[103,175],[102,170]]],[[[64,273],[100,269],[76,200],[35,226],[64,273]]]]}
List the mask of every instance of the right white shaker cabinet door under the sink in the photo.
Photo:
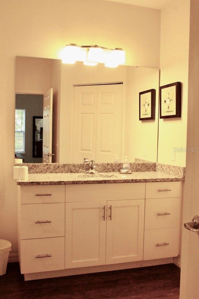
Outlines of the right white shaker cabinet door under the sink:
{"type": "Polygon", "coordinates": [[[106,264],[143,258],[144,199],[107,202],[106,264]]]}

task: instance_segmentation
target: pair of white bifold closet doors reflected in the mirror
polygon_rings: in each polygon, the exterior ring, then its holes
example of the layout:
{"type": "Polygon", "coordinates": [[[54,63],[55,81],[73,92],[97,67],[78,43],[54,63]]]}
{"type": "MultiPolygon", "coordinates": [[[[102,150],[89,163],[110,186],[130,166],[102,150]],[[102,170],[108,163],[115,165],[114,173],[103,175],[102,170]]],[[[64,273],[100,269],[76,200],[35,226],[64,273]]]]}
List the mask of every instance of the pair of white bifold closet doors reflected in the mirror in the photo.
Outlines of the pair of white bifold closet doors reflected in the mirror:
{"type": "Polygon", "coordinates": [[[121,156],[123,85],[74,87],[72,163],[121,156]]]}

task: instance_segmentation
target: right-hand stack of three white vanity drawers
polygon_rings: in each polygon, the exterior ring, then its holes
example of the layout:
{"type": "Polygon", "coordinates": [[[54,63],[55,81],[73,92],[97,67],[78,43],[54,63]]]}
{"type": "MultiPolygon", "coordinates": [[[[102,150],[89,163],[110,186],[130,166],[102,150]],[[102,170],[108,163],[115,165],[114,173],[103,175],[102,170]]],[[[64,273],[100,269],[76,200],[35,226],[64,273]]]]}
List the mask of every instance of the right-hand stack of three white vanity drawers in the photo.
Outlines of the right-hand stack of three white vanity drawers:
{"type": "Polygon", "coordinates": [[[181,183],[146,183],[143,260],[179,254],[181,183]]]}

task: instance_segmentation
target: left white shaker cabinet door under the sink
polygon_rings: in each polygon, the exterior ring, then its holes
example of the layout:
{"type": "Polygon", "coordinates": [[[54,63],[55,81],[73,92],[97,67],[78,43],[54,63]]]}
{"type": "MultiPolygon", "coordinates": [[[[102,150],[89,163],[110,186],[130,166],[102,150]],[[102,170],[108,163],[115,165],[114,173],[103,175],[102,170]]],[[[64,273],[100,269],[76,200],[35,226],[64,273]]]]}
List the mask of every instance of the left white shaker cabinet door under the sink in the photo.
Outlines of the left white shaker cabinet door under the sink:
{"type": "Polygon", "coordinates": [[[105,264],[106,201],[66,203],[66,268],[105,264]]]}

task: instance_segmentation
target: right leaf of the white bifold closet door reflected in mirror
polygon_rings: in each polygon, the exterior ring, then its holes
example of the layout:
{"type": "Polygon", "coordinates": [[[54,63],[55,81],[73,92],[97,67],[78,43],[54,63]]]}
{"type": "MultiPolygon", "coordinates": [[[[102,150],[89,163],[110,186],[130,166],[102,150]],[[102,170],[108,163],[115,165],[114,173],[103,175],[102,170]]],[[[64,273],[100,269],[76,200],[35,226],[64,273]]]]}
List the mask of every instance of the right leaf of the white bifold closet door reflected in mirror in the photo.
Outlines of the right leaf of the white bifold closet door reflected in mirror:
{"type": "Polygon", "coordinates": [[[121,156],[123,85],[97,87],[96,162],[114,162],[121,156]]]}

